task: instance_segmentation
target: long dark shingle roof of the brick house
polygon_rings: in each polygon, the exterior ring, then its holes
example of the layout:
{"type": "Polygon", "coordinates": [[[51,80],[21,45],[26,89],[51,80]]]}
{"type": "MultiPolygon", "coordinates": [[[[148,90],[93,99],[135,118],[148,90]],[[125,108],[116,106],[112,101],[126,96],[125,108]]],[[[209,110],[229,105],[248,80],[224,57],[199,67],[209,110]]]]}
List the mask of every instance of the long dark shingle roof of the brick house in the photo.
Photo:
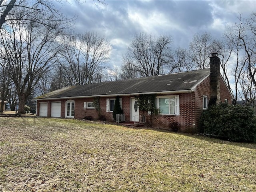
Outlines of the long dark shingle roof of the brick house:
{"type": "Polygon", "coordinates": [[[209,75],[210,69],[202,69],[174,74],[71,86],[50,92],[36,99],[189,91],[195,88],[209,75]]]}

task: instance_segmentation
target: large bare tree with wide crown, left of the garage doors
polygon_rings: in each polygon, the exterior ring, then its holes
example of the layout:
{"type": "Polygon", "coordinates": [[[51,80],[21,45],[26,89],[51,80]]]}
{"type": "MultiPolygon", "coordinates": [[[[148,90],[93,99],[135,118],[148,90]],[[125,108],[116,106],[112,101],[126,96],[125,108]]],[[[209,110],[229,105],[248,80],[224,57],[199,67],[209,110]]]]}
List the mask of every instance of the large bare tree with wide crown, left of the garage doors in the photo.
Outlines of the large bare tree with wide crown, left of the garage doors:
{"type": "MultiPolygon", "coordinates": [[[[27,6],[27,2],[24,2],[27,6]]],[[[37,7],[34,7],[37,9],[37,7]]],[[[11,10],[14,19],[6,20],[8,24],[1,29],[1,44],[7,59],[12,81],[19,97],[19,113],[24,113],[28,96],[42,76],[56,63],[59,44],[56,43],[62,20],[47,12],[36,12],[33,18],[26,14],[28,10],[20,6],[11,10]],[[49,14],[49,15],[48,15],[49,14]],[[18,20],[20,15],[27,20],[18,20]],[[34,22],[44,20],[47,25],[34,22]]]]}

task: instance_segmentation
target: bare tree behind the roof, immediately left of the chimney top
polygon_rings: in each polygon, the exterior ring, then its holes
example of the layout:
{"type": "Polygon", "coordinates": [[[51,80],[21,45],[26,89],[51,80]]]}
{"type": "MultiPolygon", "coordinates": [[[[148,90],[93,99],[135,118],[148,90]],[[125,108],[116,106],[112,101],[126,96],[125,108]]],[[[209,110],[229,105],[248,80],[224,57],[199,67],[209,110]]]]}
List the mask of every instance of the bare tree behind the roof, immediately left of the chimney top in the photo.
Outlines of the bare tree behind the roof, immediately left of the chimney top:
{"type": "Polygon", "coordinates": [[[205,69],[210,65],[209,55],[211,52],[218,52],[218,42],[209,32],[195,34],[189,44],[192,61],[196,68],[205,69]]]}

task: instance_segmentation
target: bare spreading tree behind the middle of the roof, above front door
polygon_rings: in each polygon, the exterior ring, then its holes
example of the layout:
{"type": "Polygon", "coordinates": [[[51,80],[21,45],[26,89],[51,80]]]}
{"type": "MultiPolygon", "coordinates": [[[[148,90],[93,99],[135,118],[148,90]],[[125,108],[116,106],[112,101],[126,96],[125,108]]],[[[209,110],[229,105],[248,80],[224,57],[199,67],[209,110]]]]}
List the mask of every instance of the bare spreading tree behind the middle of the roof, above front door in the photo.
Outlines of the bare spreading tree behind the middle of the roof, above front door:
{"type": "Polygon", "coordinates": [[[170,36],[154,38],[146,33],[136,34],[128,52],[123,56],[124,65],[133,66],[140,76],[164,73],[164,66],[170,63],[170,36]]]}

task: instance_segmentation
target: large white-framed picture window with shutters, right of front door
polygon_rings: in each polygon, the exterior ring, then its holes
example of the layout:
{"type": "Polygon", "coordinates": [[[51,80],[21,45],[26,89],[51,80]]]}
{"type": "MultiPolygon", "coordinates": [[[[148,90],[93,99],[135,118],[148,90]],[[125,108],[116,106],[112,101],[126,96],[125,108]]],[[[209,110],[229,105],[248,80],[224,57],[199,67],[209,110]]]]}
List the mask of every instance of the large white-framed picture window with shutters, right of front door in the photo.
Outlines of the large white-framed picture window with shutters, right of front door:
{"type": "Polygon", "coordinates": [[[157,96],[155,105],[160,114],[180,115],[180,100],[178,95],[157,96]]]}

